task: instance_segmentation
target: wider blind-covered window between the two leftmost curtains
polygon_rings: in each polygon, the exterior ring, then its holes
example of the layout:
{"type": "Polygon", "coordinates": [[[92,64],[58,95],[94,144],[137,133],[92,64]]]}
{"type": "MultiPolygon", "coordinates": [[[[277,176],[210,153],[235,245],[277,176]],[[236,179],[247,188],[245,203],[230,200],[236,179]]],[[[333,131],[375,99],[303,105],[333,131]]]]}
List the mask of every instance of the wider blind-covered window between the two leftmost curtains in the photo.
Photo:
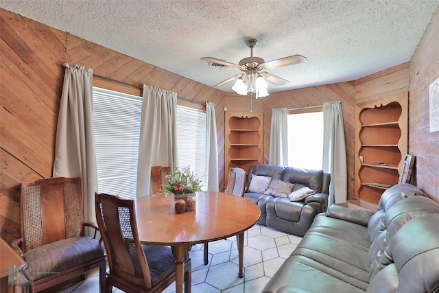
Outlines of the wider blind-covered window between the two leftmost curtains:
{"type": "Polygon", "coordinates": [[[99,192],[135,198],[142,97],[93,87],[99,192]]]}

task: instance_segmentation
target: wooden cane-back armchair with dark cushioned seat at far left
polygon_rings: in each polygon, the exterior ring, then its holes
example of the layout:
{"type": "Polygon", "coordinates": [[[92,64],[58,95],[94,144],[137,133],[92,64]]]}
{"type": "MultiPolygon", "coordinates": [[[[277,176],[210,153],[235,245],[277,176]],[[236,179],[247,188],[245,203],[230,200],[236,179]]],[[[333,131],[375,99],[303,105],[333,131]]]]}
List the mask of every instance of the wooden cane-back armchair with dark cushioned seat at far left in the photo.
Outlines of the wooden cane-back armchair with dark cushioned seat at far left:
{"type": "Polygon", "coordinates": [[[21,183],[21,239],[12,246],[27,262],[33,291],[45,290],[99,268],[104,292],[106,255],[100,241],[84,236],[80,178],[47,178],[21,183]]]}

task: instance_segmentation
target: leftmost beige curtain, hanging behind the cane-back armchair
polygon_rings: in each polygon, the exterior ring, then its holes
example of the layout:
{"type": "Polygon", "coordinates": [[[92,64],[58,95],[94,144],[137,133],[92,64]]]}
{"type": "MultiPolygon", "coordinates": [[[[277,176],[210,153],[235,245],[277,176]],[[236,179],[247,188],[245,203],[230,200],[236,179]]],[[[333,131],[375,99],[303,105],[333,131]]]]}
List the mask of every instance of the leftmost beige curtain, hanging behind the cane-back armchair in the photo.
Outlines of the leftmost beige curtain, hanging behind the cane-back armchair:
{"type": "Polygon", "coordinates": [[[54,177],[81,177],[84,220],[96,222],[97,172],[93,137],[93,69],[64,63],[54,177]]]}

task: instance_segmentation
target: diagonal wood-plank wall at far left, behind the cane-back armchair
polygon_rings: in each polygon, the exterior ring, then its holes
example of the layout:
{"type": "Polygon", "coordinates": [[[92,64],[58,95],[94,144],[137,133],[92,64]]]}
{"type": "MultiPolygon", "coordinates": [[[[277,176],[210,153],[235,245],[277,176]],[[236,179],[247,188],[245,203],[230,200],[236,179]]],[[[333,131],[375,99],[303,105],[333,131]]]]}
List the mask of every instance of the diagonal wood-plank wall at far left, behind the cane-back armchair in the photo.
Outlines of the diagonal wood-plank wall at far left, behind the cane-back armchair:
{"type": "Polygon", "coordinates": [[[66,35],[0,10],[1,237],[19,237],[19,183],[51,177],[66,35]]]}

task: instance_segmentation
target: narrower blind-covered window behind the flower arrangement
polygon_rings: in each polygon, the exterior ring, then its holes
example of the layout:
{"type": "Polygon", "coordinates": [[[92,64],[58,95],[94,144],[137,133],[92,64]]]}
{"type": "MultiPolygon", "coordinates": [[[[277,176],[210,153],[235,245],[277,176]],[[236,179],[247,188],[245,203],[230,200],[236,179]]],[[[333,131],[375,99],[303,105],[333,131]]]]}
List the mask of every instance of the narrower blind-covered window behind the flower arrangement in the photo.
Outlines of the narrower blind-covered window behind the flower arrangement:
{"type": "MultiPolygon", "coordinates": [[[[206,167],[206,111],[177,106],[178,165],[190,166],[199,176],[206,167]]],[[[200,178],[206,189],[207,178],[200,178]]]]}

